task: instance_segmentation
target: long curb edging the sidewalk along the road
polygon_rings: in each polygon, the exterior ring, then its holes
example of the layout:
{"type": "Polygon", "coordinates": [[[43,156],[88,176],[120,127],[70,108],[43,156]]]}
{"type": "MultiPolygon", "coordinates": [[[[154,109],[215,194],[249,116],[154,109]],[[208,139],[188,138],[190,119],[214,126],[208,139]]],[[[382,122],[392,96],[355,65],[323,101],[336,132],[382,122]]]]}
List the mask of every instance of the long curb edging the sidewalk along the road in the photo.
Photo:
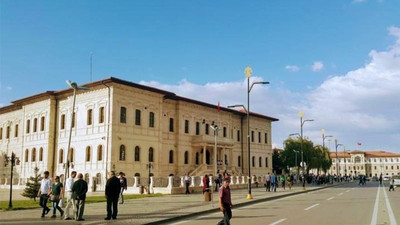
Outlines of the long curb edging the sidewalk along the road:
{"type": "MultiPolygon", "coordinates": [[[[256,199],[256,200],[252,200],[252,201],[248,201],[248,202],[242,202],[242,203],[235,204],[235,208],[241,208],[241,207],[244,207],[244,206],[248,206],[248,205],[252,205],[252,204],[256,204],[256,203],[260,203],[260,202],[264,202],[264,201],[276,200],[276,199],[285,198],[285,197],[289,197],[289,196],[294,196],[294,195],[300,195],[300,194],[304,194],[304,193],[319,191],[319,190],[322,190],[322,189],[335,187],[335,186],[339,186],[339,185],[342,185],[342,184],[346,184],[346,183],[339,183],[339,184],[334,184],[334,185],[315,188],[315,189],[312,189],[312,190],[298,191],[298,192],[288,193],[288,194],[279,195],[279,196],[272,196],[272,197],[260,198],[260,199],[256,199]]],[[[171,218],[168,218],[168,219],[163,219],[163,220],[158,220],[158,221],[146,223],[145,225],[157,225],[157,224],[164,224],[164,223],[172,223],[172,222],[176,222],[176,221],[179,221],[179,220],[184,220],[184,219],[193,218],[193,217],[197,217],[197,216],[203,216],[205,214],[215,213],[215,212],[219,212],[219,211],[220,211],[219,208],[208,209],[208,210],[204,210],[204,211],[201,211],[201,212],[195,212],[195,213],[190,213],[190,214],[186,214],[186,215],[181,215],[181,216],[171,217],[171,218]]]]}

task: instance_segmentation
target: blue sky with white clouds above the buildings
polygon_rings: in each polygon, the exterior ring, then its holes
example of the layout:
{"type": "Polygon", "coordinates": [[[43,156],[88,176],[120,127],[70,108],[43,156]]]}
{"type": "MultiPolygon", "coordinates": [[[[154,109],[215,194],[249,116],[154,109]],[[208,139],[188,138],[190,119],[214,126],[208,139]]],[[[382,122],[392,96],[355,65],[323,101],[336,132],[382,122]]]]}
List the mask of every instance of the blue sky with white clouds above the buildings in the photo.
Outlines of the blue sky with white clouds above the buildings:
{"type": "MultiPolygon", "coordinates": [[[[400,1],[0,1],[0,106],[107,77],[279,118],[272,142],[321,129],[400,153],[400,1]]],[[[357,143],[362,143],[361,146],[357,143]]],[[[341,149],[342,150],[342,149],[341,149]]]]}

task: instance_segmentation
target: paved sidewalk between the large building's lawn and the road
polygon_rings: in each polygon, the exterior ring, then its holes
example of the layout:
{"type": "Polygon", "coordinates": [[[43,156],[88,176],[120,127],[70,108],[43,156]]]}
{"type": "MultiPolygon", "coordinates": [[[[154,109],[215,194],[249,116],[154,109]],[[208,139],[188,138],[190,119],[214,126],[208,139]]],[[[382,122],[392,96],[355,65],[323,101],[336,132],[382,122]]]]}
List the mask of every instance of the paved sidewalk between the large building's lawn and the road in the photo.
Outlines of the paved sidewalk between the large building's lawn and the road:
{"type": "MultiPolygon", "coordinates": [[[[307,190],[315,190],[325,187],[308,186],[307,190]]],[[[257,202],[261,199],[290,195],[293,193],[302,192],[302,187],[294,187],[291,191],[278,188],[277,192],[265,192],[265,188],[253,188],[253,199],[246,199],[247,189],[232,190],[232,203],[245,204],[247,202],[257,202]]],[[[214,192],[213,197],[217,195],[214,192]]],[[[104,221],[106,215],[106,203],[92,203],[85,206],[86,219],[82,223],[74,221],[64,221],[59,218],[50,219],[49,213],[46,218],[40,218],[41,209],[20,210],[20,211],[5,211],[0,212],[1,224],[147,224],[155,223],[166,219],[171,219],[179,216],[187,216],[193,213],[209,211],[217,208],[217,201],[204,202],[204,197],[201,194],[190,195],[166,195],[163,197],[152,197],[142,199],[126,200],[124,204],[119,205],[118,220],[104,221]]]]}

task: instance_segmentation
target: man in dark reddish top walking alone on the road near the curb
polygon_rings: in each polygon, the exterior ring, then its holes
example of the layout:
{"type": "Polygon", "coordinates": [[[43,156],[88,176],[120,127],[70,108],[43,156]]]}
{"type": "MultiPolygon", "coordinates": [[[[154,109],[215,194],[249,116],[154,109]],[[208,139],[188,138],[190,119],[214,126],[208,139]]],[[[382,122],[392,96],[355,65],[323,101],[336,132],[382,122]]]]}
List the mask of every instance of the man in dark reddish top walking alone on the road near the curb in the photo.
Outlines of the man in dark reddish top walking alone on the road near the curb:
{"type": "Polygon", "coordinates": [[[232,218],[232,201],[231,201],[231,189],[229,188],[230,180],[224,178],[222,187],[219,189],[219,208],[224,214],[224,218],[218,223],[218,225],[230,225],[232,218]]]}

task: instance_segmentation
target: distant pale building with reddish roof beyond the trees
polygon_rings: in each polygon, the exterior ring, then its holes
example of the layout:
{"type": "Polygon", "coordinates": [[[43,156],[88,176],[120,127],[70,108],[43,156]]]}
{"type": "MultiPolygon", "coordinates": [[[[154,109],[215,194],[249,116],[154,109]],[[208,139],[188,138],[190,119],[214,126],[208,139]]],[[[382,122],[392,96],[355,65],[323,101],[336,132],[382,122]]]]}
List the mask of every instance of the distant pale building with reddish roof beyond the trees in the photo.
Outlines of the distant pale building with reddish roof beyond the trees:
{"type": "Polygon", "coordinates": [[[330,174],[393,176],[400,173],[400,154],[385,151],[331,152],[330,174]]]}

